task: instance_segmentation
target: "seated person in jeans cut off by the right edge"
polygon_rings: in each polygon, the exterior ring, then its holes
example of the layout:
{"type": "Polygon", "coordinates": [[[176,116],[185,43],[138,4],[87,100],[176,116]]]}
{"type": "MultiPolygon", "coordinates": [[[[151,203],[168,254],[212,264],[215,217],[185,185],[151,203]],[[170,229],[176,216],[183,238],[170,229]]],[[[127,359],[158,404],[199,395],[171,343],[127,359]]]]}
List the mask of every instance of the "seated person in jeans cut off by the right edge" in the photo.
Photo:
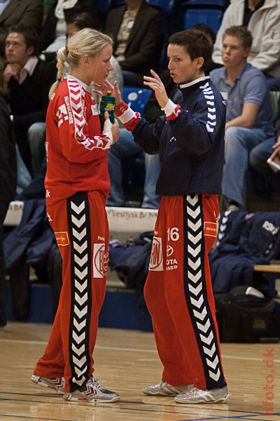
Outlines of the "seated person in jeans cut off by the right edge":
{"type": "Polygon", "coordinates": [[[262,194],[265,196],[272,196],[274,192],[280,190],[280,172],[272,169],[267,163],[267,159],[272,159],[280,166],[280,98],[278,103],[278,112],[274,121],[273,138],[269,138],[260,145],[255,146],[250,152],[250,165],[257,172],[262,175],[260,182],[262,183],[262,194]]]}

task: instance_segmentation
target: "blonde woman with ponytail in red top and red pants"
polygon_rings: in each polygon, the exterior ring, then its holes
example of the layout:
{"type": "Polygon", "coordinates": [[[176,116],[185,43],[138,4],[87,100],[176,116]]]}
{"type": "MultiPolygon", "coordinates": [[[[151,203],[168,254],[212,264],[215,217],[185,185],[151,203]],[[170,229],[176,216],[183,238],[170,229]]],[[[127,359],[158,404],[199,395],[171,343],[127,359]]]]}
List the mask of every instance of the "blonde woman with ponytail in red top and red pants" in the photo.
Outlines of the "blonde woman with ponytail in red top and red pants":
{"type": "Polygon", "coordinates": [[[94,29],[83,29],[60,48],[46,119],[46,206],[62,254],[63,286],[45,354],[31,380],[69,401],[120,398],[92,377],[109,258],[107,153],[119,127],[106,113],[101,128],[89,85],[94,80],[106,89],[111,55],[111,38],[94,29]],[[61,81],[65,62],[70,72],[61,81]]]}

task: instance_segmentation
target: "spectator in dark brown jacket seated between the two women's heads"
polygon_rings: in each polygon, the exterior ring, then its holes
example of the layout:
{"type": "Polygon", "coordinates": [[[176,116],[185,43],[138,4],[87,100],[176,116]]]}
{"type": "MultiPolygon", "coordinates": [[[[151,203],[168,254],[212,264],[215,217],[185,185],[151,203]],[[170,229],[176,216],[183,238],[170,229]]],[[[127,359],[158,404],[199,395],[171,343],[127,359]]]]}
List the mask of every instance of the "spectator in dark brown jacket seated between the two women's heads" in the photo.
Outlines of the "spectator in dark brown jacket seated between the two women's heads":
{"type": "Polygon", "coordinates": [[[158,69],[162,50],[163,14],[146,0],[127,0],[109,11],[105,32],[113,36],[113,55],[123,70],[125,86],[144,86],[144,74],[158,69]]]}

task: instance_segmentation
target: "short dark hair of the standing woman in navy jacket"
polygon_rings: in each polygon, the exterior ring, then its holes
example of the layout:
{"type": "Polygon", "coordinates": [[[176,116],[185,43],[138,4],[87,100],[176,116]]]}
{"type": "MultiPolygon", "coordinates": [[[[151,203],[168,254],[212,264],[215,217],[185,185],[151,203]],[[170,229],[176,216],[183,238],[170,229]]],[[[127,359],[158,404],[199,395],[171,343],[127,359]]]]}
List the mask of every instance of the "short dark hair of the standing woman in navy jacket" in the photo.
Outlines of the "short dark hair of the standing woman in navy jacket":
{"type": "Polygon", "coordinates": [[[212,46],[204,32],[199,31],[198,29],[185,29],[172,34],[168,41],[169,44],[182,46],[186,53],[190,55],[190,60],[192,61],[198,57],[204,58],[204,63],[201,68],[203,71],[209,68],[210,63],[212,62],[212,46]]]}

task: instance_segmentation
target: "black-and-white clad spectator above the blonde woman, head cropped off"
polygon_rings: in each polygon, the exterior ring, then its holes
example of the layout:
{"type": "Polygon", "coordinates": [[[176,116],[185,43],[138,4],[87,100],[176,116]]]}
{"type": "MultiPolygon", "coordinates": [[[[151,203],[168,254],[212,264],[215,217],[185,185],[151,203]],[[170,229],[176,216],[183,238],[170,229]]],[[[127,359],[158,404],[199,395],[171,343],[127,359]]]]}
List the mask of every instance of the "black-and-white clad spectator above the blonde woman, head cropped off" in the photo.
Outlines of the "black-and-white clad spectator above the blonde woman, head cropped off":
{"type": "Polygon", "coordinates": [[[97,9],[94,0],[58,0],[50,8],[43,24],[39,51],[56,53],[66,44],[66,22],[77,13],[93,13],[97,9]]]}

